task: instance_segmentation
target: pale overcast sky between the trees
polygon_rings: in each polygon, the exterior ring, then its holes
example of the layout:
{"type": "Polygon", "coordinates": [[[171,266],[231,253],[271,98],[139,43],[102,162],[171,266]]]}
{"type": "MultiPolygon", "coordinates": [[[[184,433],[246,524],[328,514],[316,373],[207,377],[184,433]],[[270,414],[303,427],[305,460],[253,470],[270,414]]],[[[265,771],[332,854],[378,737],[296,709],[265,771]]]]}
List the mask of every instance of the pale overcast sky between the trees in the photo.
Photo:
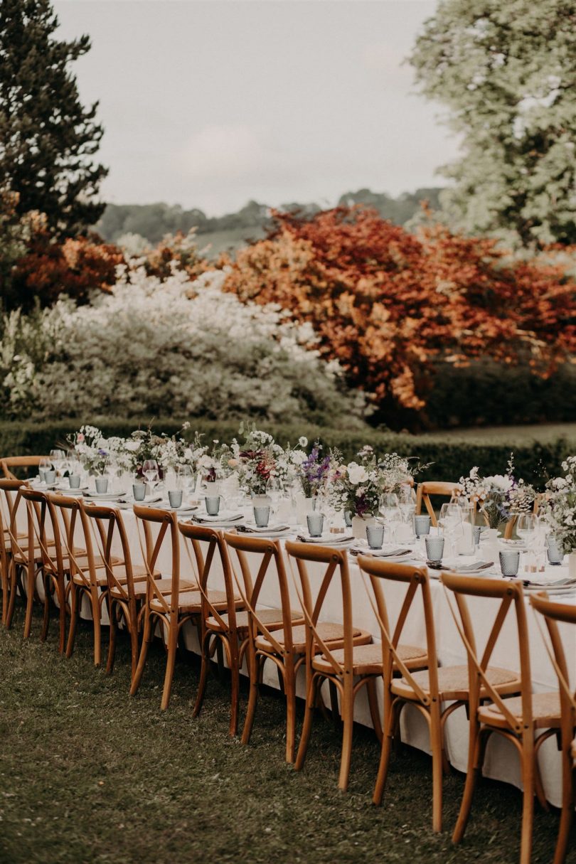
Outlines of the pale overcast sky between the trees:
{"type": "Polygon", "coordinates": [[[99,99],[105,200],[209,215],[440,185],[456,155],[402,60],[436,0],[55,0],[99,99]]]}

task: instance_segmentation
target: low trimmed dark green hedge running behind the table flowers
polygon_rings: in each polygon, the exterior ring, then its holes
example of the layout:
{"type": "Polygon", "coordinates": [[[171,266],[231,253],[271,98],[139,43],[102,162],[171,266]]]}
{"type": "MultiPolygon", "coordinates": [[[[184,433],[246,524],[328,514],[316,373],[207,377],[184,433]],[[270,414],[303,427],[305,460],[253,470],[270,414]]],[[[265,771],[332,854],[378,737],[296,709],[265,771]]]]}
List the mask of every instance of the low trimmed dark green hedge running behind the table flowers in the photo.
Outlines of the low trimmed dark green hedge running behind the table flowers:
{"type": "MultiPolygon", "coordinates": [[[[66,435],[79,429],[81,420],[59,422],[25,423],[0,422],[0,455],[16,456],[23,454],[45,454],[57,443],[65,442],[66,435]]],[[[91,418],[106,435],[130,435],[139,425],[138,420],[121,420],[107,417],[91,418]]],[[[157,432],[173,435],[181,428],[182,422],[174,419],[158,419],[154,422],[157,432]]],[[[229,441],[237,435],[239,422],[225,423],[193,421],[191,431],[198,429],[205,435],[205,441],[214,439],[229,441]]],[[[325,448],[338,447],[345,459],[351,460],[364,446],[371,444],[378,453],[392,452],[417,457],[422,464],[434,463],[419,475],[420,480],[458,480],[460,476],[478,465],[481,473],[503,473],[514,451],[517,475],[522,476],[535,486],[543,486],[547,476],[560,473],[560,463],[567,454],[576,452],[576,442],[559,438],[552,442],[536,443],[498,441],[494,443],[458,440],[453,436],[438,435],[396,435],[389,431],[379,431],[365,426],[364,429],[327,429],[318,426],[271,425],[265,428],[281,442],[295,443],[300,435],[306,435],[310,442],[319,439],[325,448]]]]}

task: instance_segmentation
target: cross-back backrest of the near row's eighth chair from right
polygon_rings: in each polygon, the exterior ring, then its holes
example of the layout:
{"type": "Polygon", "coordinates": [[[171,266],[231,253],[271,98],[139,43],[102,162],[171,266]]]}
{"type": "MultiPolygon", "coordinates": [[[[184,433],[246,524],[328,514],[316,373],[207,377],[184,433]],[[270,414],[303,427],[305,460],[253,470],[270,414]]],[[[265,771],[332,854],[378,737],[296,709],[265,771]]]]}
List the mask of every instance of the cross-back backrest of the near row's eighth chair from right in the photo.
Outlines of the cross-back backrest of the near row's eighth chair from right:
{"type": "MultiPolygon", "coordinates": [[[[84,524],[85,533],[90,533],[91,542],[86,548],[88,568],[96,570],[94,550],[104,562],[108,588],[114,588],[119,592],[123,601],[136,611],[136,591],[134,588],[134,570],[132,569],[132,557],[130,556],[130,543],[123,523],[122,513],[112,507],[103,507],[97,504],[86,504],[82,502],[80,516],[84,524]],[[112,547],[117,537],[122,549],[123,576],[125,581],[120,581],[114,574],[114,557],[112,547]],[[93,542],[92,542],[93,541],[93,542]]],[[[100,571],[102,572],[102,571],[100,571]]]]}

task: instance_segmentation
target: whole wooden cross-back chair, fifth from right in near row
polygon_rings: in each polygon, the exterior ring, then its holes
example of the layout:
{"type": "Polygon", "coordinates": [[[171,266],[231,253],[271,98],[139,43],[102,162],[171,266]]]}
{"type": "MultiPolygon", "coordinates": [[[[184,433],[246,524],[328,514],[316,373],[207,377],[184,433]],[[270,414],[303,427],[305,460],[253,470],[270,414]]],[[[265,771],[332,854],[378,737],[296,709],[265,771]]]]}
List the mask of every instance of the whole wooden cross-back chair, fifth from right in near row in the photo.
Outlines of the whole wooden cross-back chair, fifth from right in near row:
{"type": "Polygon", "coordinates": [[[291,607],[280,541],[234,533],[225,533],[224,538],[240,565],[241,577],[235,574],[235,578],[247,613],[250,696],[242,743],[250,741],[263,666],[270,660],[286,696],[286,761],[291,763],[296,734],[296,673],[304,660],[304,618],[301,611],[291,607]],[[263,607],[263,595],[276,604],[280,601],[279,605],[263,607]]]}

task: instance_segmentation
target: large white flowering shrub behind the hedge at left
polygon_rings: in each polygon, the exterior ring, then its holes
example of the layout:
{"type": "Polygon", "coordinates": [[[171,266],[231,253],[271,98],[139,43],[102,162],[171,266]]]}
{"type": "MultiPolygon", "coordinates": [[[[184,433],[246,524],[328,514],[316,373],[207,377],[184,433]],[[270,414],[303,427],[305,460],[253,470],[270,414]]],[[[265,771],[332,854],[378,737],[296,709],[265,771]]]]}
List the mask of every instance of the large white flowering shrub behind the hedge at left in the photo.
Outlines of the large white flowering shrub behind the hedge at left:
{"type": "Polygon", "coordinates": [[[164,282],[142,266],[89,306],[61,299],[3,322],[4,416],[259,416],[337,422],[358,415],[313,330],[275,306],[225,293],[225,272],[164,282]]]}

